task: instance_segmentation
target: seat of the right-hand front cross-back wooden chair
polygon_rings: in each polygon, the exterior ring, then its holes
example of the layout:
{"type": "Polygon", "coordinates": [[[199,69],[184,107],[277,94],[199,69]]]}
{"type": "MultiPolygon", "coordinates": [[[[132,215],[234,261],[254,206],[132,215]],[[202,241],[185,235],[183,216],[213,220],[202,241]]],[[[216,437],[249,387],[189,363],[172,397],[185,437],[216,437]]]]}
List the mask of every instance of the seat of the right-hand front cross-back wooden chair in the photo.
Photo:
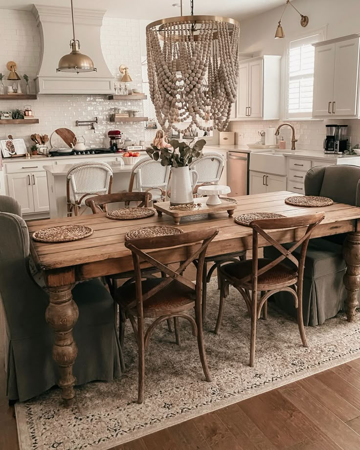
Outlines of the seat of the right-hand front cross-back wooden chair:
{"type": "MultiPolygon", "coordinates": [[[[259,258],[258,268],[262,268],[271,262],[271,259],[259,258]]],[[[232,278],[243,279],[252,273],[252,260],[233,262],[231,264],[226,264],[220,268],[221,272],[232,278]]],[[[277,264],[272,269],[265,272],[265,274],[258,276],[258,287],[261,289],[262,285],[274,286],[277,284],[282,284],[284,282],[294,281],[296,282],[297,272],[295,269],[287,267],[285,264],[277,264]]],[[[251,287],[251,280],[244,283],[244,287],[251,287]]],[[[269,288],[267,289],[269,290],[269,288]]]]}

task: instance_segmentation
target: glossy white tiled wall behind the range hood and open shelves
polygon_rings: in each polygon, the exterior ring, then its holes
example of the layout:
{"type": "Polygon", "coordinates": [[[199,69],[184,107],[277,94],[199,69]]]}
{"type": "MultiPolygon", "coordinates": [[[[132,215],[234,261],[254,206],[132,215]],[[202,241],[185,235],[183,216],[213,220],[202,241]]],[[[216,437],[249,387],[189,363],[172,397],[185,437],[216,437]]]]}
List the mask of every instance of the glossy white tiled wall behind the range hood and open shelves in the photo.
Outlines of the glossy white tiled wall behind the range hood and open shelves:
{"type": "MultiPolygon", "coordinates": [[[[0,72],[7,77],[6,63],[15,61],[18,64],[17,72],[22,77],[26,73],[30,79],[37,73],[40,62],[40,35],[36,21],[29,11],[16,11],[0,9],[0,72]]],[[[70,39],[70,37],[69,37],[70,39]]],[[[119,65],[127,64],[129,73],[133,79],[131,87],[141,88],[141,58],[140,58],[140,33],[139,21],[130,19],[116,19],[105,17],[101,28],[101,45],[105,61],[114,76],[120,76],[119,65]]],[[[83,50],[91,57],[91,49],[83,50]]],[[[54,67],[55,72],[56,67],[54,67]]],[[[23,81],[23,80],[22,80],[23,81]]],[[[10,82],[5,80],[5,85],[10,82]]],[[[34,84],[32,85],[33,93],[34,84]]],[[[25,85],[22,82],[22,90],[25,85]]],[[[139,109],[139,115],[143,115],[142,101],[113,102],[108,101],[105,95],[40,95],[38,100],[0,101],[0,110],[22,109],[24,104],[30,103],[35,116],[39,119],[39,125],[0,125],[0,139],[8,134],[15,137],[23,137],[28,146],[32,133],[50,134],[57,128],[66,127],[72,129],[75,134],[84,135],[90,146],[102,146],[109,144],[107,131],[109,129],[121,129],[124,136],[137,142],[144,139],[143,122],[127,124],[113,124],[109,122],[111,108],[139,109]],[[99,124],[95,125],[96,133],[90,127],[75,127],[76,120],[89,120],[99,117],[99,124]]]]}

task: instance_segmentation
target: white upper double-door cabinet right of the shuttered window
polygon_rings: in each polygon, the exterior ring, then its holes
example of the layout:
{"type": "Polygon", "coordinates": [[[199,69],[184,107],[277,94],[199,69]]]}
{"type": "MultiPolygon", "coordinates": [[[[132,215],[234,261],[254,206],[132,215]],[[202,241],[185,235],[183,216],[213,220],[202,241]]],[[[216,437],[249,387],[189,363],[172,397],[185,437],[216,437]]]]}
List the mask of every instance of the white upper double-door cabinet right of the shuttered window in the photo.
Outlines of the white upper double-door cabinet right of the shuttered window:
{"type": "Polygon", "coordinates": [[[313,117],[359,117],[360,35],[315,43],[313,117]]]}

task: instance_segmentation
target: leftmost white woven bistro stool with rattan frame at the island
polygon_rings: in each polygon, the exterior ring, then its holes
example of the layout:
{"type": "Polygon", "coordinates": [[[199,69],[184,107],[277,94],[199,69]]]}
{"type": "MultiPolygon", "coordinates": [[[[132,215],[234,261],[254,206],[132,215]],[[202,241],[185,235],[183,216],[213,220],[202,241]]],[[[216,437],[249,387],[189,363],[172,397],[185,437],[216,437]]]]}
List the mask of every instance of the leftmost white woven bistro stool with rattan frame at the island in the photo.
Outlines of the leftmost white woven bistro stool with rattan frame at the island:
{"type": "Polygon", "coordinates": [[[112,168],[101,161],[74,164],[67,172],[67,216],[79,215],[85,201],[94,195],[111,192],[112,168]]]}

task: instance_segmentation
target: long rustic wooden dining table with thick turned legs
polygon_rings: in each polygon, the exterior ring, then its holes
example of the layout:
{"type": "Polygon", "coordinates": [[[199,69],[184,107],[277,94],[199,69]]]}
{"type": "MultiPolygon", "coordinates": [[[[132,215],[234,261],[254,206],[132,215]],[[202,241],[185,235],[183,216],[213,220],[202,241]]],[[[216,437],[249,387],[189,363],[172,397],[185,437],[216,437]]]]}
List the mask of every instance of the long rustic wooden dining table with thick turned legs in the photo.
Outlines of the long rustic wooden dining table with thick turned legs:
{"type": "MultiPolygon", "coordinates": [[[[313,237],[348,233],[344,243],[344,258],[347,264],[344,284],[347,290],[345,312],[352,321],[358,304],[360,288],[360,208],[342,203],[320,208],[304,208],[285,203],[290,192],[263,193],[237,197],[234,216],[250,212],[271,212],[285,216],[324,212],[325,218],[315,228],[313,237]]],[[[53,358],[59,368],[59,386],[66,406],[71,406],[75,398],[72,366],[77,356],[77,346],[72,329],[78,319],[78,308],[71,296],[71,289],[77,281],[128,272],[133,269],[130,251],[125,247],[128,230],[145,226],[174,226],[172,217],[154,215],[140,220],[112,220],[105,213],[81,215],[28,223],[30,236],[40,229],[69,224],[87,225],[93,234],[85,239],[67,243],[41,243],[30,238],[30,251],[37,267],[43,271],[49,292],[49,305],[45,318],[55,334],[53,358]]],[[[219,234],[208,247],[208,256],[250,250],[252,229],[238,225],[227,212],[216,214],[190,215],[181,219],[184,232],[217,226],[219,234]]],[[[270,231],[270,235],[280,243],[298,240],[305,232],[302,228],[270,231]]],[[[259,240],[261,244],[266,242],[259,240]]],[[[197,244],[195,244],[196,246],[197,244]]],[[[187,259],[194,252],[194,246],[158,249],[150,251],[164,264],[177,263],[187,259]]],[[[147,267],[144,263],[144,267],[147,267]]]]}

